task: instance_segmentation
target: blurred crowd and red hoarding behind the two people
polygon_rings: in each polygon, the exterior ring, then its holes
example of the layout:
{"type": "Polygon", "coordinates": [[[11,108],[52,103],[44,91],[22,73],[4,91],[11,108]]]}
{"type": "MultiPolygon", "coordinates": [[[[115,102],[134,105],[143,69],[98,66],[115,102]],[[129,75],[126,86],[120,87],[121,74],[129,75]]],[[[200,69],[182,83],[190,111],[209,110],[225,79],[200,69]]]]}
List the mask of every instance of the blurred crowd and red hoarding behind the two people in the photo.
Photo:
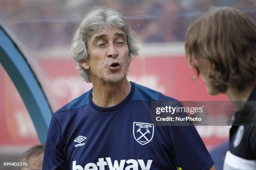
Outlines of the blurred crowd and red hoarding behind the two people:
{"type": "MultiPolygon", "coordinates": [[[[185,33],[212,6],[236,7],[256,20],[256,0],[0,0],[1,26],[23,52],[53,112],[92,87],[78,76],[70,45],[83,16],[95,5],[121,12],[136,34],[141,50],[131,63],[129,80],[178,100],[228,100],[208,95],[201,77],[191,81],[195,72],[187,65],[185,33]]],[[[209,150],[228,139],[227,126],[197,130],[209,150]]],[[[1,163],[18,160],[38,143],[26,106],[1,63],[1,163]]]]}

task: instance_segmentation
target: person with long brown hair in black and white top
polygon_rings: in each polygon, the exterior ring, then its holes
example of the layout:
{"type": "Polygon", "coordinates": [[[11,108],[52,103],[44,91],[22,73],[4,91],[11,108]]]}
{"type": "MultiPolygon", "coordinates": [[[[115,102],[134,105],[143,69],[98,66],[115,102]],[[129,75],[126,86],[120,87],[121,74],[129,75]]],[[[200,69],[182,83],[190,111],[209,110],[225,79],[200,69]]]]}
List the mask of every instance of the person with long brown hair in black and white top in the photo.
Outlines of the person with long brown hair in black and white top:
{"type": "Polygon", "coordinates": [[[235,8],[214,7],[190,25],[186,52],[208,93],[225,93],[240,107],[230,128],[224,170],[256,170],[255,21],[235,8]]]}

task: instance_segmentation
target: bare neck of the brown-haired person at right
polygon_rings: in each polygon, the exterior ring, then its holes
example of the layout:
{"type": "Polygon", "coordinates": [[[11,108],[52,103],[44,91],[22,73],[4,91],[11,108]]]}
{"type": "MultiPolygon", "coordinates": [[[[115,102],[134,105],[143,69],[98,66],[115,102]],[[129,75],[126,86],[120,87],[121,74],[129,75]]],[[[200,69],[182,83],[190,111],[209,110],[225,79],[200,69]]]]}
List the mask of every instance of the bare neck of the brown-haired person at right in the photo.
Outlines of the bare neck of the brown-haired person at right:
{"type": "Polygon", "coordinates": [[[255,85],[247,86],[245,90],[239,92],[236,88],[229,87],[226,94],[230,101],[247,101],[255,85]]]}

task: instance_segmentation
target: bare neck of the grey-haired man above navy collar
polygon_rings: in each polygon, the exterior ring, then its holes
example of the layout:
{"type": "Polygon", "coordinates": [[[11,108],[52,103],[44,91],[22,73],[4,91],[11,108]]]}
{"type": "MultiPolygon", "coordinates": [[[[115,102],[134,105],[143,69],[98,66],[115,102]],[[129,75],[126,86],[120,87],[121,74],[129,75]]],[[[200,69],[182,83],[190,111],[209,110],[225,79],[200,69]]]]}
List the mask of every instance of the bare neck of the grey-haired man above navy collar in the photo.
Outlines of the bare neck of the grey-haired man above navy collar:
{"type": "Polygon", "coordinates": [[[125,79],[117,84],[92,82],[92,101],[100,107],[111,107],[122,102],[131,91],[131,83],[125,79]]]}

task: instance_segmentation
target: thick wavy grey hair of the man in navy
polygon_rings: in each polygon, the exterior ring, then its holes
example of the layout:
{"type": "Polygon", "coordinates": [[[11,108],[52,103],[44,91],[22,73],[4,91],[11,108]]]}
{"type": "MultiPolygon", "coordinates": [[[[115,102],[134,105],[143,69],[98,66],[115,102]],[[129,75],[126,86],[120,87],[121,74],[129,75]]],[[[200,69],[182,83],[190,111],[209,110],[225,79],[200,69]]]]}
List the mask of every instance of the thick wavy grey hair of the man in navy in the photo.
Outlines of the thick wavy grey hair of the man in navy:
{"type": "Polygon", "coordinates": [[[71,50],[72,57],[77,62],[77,70],[79,75],[86,81],[91,82],[88,70],[80,65],[89,59],[87,50],[87,42],[89,38],[96,32],[104,29],[121,29],[127,37],[129,49],[129,57],[138,56],[138,46],[135,43],[133,31],[129,27],[124,17],[115,10],[106,7],[93,7],[87,15],[84,16],[72,41],[71,50]]]}

